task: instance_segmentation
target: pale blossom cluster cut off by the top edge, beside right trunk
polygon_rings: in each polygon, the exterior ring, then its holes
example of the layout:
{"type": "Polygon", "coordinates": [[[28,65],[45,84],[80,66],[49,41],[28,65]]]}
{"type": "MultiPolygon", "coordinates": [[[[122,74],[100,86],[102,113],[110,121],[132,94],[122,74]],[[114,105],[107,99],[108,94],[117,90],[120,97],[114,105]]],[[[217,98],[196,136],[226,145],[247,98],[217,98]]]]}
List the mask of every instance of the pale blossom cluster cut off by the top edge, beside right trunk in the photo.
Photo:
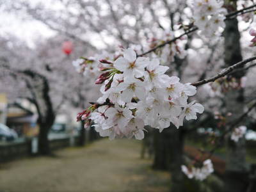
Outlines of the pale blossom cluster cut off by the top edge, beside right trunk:
{"type": "Polygon", "coordinates": [[[220,35],[220,29],[225,28],[225,14],[227,10],[222,8],[223,1],[217,0],[195,0],[193,12],[195,25],[200,29],[202,35],[212,37],[220,35]]]}

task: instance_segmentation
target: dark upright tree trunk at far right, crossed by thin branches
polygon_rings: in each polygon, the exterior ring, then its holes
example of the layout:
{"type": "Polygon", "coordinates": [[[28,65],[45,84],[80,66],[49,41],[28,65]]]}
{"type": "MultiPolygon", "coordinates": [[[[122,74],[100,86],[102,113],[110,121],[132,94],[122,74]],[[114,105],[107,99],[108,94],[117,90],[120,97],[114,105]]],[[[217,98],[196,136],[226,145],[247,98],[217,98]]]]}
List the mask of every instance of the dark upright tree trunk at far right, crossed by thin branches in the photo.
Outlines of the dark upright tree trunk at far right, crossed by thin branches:
{"type": "MultiPolygon", "coordinates": [[[[232,7],[236,10],[236,1],[226,1],[227,7],[232,7]]],[[[230,10],[233,11],[233,10],[230,10]]],[[[238,30],[237,19],[226,20],[226,28],[224,31],[225,37],[225,64],[233,65],[241,60],[240,33],[238,30]]],[[[243,72],[234,74],[238,81],[244,76],[243,72]]],[[[230,90],[225,94],[225,104],[227,113],[232,113],[228,118],[228,123],[234,122],[238,116],[243,113],[243,89],[230,90]]],[[[238,126],[238,125],[237,125],[238,126]]],[[[240,192],[246,191],[248,170],[246,168],[246,148],[244,138],[237,143],[227,140],[227,162],[225,171],[225,191],[240,192]]]]}

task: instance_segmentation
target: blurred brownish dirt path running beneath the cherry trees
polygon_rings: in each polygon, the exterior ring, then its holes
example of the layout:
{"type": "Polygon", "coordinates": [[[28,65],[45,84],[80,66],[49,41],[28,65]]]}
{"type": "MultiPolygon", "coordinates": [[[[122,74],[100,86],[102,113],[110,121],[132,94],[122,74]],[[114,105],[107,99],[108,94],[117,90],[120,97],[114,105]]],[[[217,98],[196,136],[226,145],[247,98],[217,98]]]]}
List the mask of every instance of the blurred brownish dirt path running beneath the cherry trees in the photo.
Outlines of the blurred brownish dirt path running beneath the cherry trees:
{"type": "Polygon", "coordinates": [[[168,191],[168,173],[140,159],[140,143],[100,140],[0,166],[0,192],[168,191]]]}

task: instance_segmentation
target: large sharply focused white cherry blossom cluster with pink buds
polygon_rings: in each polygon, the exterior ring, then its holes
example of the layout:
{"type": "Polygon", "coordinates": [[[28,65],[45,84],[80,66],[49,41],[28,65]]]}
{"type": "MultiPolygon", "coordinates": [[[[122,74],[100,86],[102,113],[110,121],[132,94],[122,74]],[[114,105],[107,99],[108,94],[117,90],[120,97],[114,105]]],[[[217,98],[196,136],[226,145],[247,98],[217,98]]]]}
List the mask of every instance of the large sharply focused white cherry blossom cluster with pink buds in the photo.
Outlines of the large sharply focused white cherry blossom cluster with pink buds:
{"type": "Polygon", "coordinates": [[[159,65],[159,60],[136,56],[133,49],[125,49],[115,61],[100,60],[104,67],[96,84],[102,84],[96,103],[82,113],[77,120],[85,125],[93,123],[100,136],[110,139],[144,138],[144,126],[159,131],[172,123],[179,128],[186,120],[196,119],[204,107],[188,97],[196,93],[195,86],[179,82],[179,77],[165,74],[169,67],[159,65]]]}

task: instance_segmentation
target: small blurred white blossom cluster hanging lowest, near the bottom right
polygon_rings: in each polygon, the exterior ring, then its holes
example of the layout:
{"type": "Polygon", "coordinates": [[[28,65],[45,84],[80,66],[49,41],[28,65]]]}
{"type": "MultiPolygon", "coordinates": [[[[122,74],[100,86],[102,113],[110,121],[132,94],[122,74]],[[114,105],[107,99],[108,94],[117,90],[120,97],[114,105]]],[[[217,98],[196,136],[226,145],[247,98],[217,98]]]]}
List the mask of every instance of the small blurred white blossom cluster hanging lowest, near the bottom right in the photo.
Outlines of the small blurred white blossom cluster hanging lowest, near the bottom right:
{"type": "Polygon", "coordinates": [[[196,180],[204,180],[206,179],[211,173],[214,172],[213,165],[211,159],[207,159],[203,162],[203,166],[199,167],[187,167],[186,165],[181,166],[182,172],[187,175],[189,179],[196,179],[196,180]]]}

